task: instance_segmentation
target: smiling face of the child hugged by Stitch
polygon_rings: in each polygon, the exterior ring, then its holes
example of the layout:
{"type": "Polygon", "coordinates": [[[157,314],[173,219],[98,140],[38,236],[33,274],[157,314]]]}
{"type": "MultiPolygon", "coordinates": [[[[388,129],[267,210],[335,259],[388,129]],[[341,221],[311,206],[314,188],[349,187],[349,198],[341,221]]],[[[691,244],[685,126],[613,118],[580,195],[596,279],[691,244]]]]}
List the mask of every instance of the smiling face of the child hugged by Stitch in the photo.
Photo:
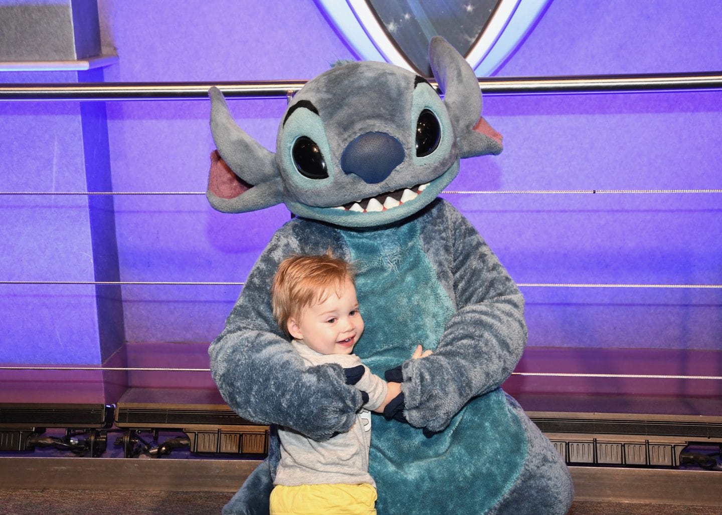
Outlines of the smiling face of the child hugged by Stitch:
{"type": "Polygon", "coordinates": [[[290,335],[321,354],[352,353],[363,333],[354,283],[347,280],[338,293],[332,290],[325,301],[305,307],[297,319],[290,318],[290,335]]]}

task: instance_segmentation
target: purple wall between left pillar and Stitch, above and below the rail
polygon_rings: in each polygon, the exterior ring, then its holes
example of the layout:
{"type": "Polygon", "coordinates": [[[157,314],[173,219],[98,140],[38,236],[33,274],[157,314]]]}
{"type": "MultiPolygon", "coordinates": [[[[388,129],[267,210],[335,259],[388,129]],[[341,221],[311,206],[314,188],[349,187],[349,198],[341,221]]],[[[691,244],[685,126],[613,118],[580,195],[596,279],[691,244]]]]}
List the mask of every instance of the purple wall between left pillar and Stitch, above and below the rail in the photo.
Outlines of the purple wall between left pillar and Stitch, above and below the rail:
{"type": "MultiPolygon", "coordinates": [[[[117,1],[101,4],[100,16],[120,56],[106,71],[108,82],[308,79],[333,61],[353,58],[310,1],[173,6],[117,1]]],[[[270,149],[285,105],[285,100],[230,102],[240,126],[270,149]]],[[[205,101],[109,103],[113,188],[205,191],[214,148],[209,107],[205,101]]],[[[244,281],[271,234],[289,218],[284,207],[219,214],[202,195],[118,198],[121,278],[244,281]]],[[[240,286],[125,286],[126,338],[212,340],[239,291],[240,286]]]]}

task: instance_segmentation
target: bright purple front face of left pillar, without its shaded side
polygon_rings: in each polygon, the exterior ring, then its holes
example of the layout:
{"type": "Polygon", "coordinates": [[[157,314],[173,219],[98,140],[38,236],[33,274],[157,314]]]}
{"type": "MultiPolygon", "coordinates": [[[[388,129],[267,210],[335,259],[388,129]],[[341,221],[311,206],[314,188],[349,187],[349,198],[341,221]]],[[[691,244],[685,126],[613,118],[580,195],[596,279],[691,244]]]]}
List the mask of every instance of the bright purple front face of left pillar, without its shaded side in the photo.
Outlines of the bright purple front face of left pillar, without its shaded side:
{"type": "MultiPolygon", "coordinates": [[[[0,117],[0,190],[85,190],[77,103],[4,102],[0,117]]],[[[0,234],[6,281],[94,280],[84,196],[1,196],[0,234]]],[[[93,286],[1,288],[0,362],[100,363],[93,286]]]]}

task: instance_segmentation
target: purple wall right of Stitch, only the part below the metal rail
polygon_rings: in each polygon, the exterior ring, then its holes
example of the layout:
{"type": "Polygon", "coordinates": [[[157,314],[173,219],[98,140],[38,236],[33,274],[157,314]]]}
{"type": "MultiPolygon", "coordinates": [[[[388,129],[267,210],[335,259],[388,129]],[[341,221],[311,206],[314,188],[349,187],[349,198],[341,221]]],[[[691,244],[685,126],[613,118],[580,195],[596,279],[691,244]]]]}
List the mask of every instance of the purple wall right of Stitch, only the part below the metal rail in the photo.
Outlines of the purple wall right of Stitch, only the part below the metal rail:
{"type": "MultiPolygon", "coordinates": [[[[722,92],[493,97],[449,190],[722,189],[722,92]]],[[[719,194],[447,195],[518,283],[721,284],[719,194]]],[[[529,344],[719,349],[720,289],[523,288],[529,344]]]]}

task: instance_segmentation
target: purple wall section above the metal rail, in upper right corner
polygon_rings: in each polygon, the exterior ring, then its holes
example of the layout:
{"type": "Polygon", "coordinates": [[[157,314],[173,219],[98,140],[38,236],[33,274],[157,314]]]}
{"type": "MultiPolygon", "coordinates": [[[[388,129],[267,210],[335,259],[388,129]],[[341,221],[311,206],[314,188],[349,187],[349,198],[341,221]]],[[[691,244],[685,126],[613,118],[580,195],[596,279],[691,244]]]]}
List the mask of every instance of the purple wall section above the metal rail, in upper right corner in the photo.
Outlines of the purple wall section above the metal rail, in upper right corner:
{"type": "Polygon", "coordinates": [[[716,0],[552,0],[495,75],[719,71],[716,0]]]}

